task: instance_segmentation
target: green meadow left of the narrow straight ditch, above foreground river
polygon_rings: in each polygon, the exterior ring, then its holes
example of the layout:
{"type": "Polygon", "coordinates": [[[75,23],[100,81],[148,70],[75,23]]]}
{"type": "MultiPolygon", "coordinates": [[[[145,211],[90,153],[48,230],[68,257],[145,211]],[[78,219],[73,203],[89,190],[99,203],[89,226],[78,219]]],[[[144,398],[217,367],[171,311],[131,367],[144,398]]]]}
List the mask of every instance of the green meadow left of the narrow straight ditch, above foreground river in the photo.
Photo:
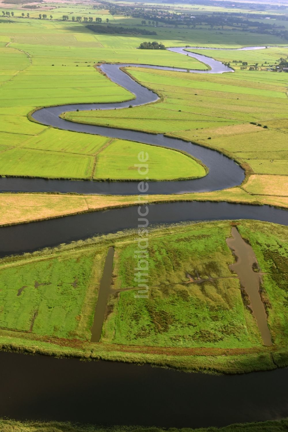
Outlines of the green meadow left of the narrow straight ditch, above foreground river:
{"type": "Polygon", "coordinates": [[[51,254],[3,265],[1,329],[86,338],[93,313],[90,303],[97,296],[104,253],[51,254]],[[94,268],[98,276],[95,281],[94,268]]]}

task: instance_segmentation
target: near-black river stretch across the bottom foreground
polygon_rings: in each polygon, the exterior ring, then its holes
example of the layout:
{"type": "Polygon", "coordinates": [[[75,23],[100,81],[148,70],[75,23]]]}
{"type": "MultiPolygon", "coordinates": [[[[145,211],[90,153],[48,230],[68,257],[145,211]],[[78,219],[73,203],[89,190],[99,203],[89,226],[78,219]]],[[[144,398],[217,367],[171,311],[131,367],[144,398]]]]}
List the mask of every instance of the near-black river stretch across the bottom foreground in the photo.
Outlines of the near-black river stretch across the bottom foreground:
{"type": "Polygon", "coordinates": [[[288,413],[288,369],[215,376],[18,353],[0,359],[0,416],[205,427],[288,413]]]}

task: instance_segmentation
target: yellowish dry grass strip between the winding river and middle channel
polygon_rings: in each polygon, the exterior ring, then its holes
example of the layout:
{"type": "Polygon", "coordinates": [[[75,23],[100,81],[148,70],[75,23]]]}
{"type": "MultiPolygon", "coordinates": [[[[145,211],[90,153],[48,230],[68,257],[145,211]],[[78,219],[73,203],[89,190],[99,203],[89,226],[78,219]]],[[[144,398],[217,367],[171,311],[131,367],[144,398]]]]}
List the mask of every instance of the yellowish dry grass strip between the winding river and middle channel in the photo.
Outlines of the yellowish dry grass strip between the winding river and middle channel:
{"type": "MultiPolygon", "coordinates": [[[[282,184],[283,193],[285,193],[284,186],[282,184]]],[[[266,188],[268,188],[267,185],[266,188]]],[[[150,204],[169,201],[226,201],[255,205],[268,204],[284,209],[288,208],[288,197],[251,194],[244,191],[241,187],[203,193],[149,195],[147,200],[150,204]]],[[[132,206],[135,203],[138,203],[138,197],[133,195],[4,193],[0,195],[0,226],[52,219],[115,207],[132,206]]]]}

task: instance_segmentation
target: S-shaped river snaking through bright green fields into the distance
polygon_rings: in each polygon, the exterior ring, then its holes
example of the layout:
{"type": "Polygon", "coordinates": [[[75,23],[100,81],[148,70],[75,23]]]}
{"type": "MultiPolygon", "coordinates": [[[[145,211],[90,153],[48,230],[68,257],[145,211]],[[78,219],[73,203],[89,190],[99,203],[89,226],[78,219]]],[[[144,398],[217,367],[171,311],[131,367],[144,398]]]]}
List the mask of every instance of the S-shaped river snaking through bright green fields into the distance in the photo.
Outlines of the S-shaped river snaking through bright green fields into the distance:
{"type": "MultiPolygon", "coordinates": [[[[191,49],[197,49],[190,47],[191,49]]],[[[265,47],[247,47],[243,49],[262,49],[265,47]]],[[[195,54],[184,51],[184,47],[168,48],[178,54],[184,54],[196,58],[207,64],[209,70],[190,70],[191,73],[225,73],[234,72],[230,67],[225,66],[220,61],[202,54],[195,54]]],[[[102,103],[102,104],[73,104],[61,105],[57,107],[41,108],[35,111],[33,118],[41,124],[57,127],[63,130],[74,132],[85,132],[93,135],[103,135],[105,137],[119,138],[124,140],[139,141],[141,143],[156,146],[165,146],[171,149],[184,150],[191,156],[200,159],[208,168],[209,173],[203,178],[185,181],[150,181],[149,194],[177,194],[184,192],[207,192],[237,186],[244,180],[244,170],[232,159],[224,156],[215,150],[208,149],[196,144],[187,143],[183,140],[165,137],[159,133],[153,135],[134,130],[122,130],[111,127],[95,126],[88,124],[78,124],[66,121],[59,117],[66,111],[82,110],[105,110],[114,108],[127,108],[129,105],[139,106],[150,102],[155,102],[158,95],[152,90],[141,86],[130,78],[127,73],[121,70],[122,67],[146,67],[150,69],[173,70],[187,72],[187,69],[177,67],[151,66],[147,64],[103,64],[102,72],[114,83],[129,90],[135,99],[126,102],[102,103]]],[[[44,180],[37,178],[0,178],[1,191],[14,192],[77,192],[79,194],[111,194],[111,195],[134,195],[137,194],[136,182],[109,182],[109,181],[67,181],[67,180],[44,180]]]]}

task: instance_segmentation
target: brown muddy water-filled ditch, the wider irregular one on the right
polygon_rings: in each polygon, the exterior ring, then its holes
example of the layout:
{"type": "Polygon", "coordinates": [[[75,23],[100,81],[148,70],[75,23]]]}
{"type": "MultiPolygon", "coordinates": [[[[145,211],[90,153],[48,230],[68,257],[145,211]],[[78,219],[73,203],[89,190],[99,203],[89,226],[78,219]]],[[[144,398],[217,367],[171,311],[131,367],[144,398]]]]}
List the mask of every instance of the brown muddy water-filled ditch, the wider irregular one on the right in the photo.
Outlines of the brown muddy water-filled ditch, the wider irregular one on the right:
{"type": "Polygon", "coordinates": [[[231,229],[231,238],[227,238],[226,242],[229,248],[234,252],[237,261],[231,264],[230,270],[237,273],[241,286],[247,292],[250,300],[250,307],[257,321],[264,345],[271,346],[271,334],[267,324],[266,311],[260,296],[261,273],[256,273],[253,270],[253,264],[257,264],[257,258],[253,248],[248,245],[235,226],[231,229]]]}

